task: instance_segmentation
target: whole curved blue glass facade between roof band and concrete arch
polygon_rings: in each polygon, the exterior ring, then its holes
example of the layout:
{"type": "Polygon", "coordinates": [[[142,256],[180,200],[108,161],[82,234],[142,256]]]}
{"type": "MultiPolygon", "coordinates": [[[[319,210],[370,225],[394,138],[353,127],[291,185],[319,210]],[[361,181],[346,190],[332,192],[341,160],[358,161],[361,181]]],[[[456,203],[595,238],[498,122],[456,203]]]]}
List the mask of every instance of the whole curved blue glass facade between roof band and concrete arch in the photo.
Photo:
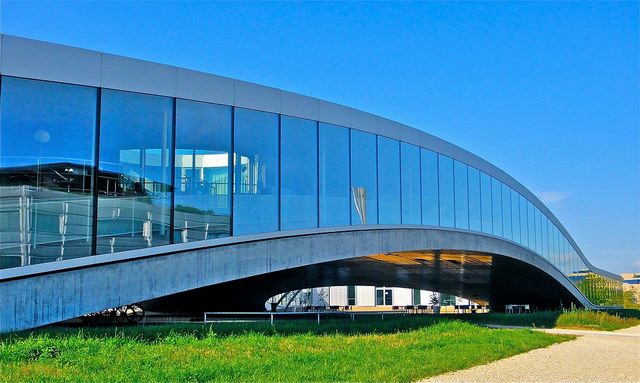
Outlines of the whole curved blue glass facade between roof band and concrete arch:
{"type": "MultiPolygon", "coordinates": [[[[532,201],[441,153],[313,120],[2,77],[0,268],[280,230],[411,224],[481,232],[591,272],[532,201]]],[[[603,289],[606,288],[606,293],[603,289]]]]}

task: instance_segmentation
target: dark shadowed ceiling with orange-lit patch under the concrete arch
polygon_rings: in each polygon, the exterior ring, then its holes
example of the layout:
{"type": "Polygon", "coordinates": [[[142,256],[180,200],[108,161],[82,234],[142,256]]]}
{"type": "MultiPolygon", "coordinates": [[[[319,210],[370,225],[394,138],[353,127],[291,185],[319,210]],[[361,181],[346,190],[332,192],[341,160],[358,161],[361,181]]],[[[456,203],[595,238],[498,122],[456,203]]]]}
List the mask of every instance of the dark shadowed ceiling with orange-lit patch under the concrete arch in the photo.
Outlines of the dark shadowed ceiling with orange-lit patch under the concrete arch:
{"type": "Polygon", "coordinates": [[[144,302],[152,311],[262,311],[270,297],[323,286],[388,286],[424,289],[468,298],[494,308],[580,306],[554,278],[504,256],[455,250],[372,254],[296,267],[203,287],[144,302]]]}

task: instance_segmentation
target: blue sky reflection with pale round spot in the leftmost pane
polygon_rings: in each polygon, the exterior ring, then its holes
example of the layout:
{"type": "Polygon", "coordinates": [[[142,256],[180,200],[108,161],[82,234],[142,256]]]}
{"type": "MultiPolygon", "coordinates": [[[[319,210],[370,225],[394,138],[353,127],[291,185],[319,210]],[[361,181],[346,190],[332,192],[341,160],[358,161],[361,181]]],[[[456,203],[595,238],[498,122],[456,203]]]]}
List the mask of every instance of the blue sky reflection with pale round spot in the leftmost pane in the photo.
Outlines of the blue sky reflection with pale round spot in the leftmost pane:
{"type": "Polygon", "coordinates": [[[0,166],[93,163],[96,90],[3,77],[0,166]]]}

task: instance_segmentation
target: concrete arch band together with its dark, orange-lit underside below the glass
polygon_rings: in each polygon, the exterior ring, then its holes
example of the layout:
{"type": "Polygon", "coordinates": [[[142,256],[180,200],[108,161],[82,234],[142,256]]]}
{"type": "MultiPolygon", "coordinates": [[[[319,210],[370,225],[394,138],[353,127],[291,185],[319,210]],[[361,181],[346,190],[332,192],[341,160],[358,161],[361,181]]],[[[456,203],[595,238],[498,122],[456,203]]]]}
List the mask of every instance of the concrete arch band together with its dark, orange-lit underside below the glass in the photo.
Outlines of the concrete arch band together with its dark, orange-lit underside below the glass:
{"type": "Polygon", "coordinates": [[[93,265],[7,280],[0,296],[10,309],[0,311],[0,331],[138,302],[169,312],[262,310],[277,293],[331,285],[436,290],[493,307],[592,307],[545,259],[510,241],[466,231],[363,227],[208,242],[215,241],[123,252],[119,260],[96,256],[93,265]]]}

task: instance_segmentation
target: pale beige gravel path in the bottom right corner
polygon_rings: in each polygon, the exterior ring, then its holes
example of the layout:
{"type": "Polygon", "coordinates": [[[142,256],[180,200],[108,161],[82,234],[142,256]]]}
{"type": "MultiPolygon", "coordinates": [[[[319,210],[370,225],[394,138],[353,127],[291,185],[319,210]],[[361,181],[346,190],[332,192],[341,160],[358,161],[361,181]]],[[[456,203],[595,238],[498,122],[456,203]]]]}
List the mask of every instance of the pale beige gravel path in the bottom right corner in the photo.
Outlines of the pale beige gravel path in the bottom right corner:
{"type": "Polygon", "coordinates": [[[640,326],[614,331],[545,330],[578,339],[435,376],[426,382],[640,383],[640,326]]]}

